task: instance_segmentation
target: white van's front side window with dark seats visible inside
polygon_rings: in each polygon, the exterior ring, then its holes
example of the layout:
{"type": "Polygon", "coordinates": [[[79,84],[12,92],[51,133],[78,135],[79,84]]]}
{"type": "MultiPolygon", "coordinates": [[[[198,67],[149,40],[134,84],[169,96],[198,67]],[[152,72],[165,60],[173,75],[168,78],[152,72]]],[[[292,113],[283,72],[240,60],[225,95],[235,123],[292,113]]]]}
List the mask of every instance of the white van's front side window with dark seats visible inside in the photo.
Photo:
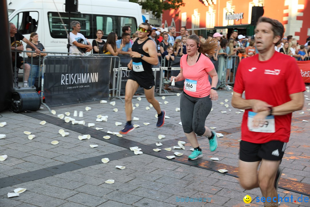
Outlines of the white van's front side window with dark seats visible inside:
{"type": "Polygon", "coordinates": [[[12,22],[21,34],[30,34],[37,31],[39,13],[37,11],[24,11],[16,14],[12,22]]]}

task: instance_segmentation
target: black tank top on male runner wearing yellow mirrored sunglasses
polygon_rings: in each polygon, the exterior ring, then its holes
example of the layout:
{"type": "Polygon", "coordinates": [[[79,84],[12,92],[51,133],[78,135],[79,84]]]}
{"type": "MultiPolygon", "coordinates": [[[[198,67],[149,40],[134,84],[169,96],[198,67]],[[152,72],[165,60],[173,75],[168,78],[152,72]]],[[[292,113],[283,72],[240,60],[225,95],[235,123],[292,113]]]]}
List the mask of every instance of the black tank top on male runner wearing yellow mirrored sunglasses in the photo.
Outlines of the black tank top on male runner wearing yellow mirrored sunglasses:
{"type": "MultiPolygon", "coordinates": [[[[149,41],[150,39],[147,38],[143,43],[141,44],[138,44],[138,39],[136,39],[136,41],[133,43],[132,47],[131,47],[131,50],[133,52],[139,52],[140,54],[144,55],[144,56],[147,56],[149,57],[149,54],[147,52],[145,52],[142,47],[143,45],[149,41]]],[[[152,40],[151,40],[152,41],[152,40]]],[[[136,57],[133,57],[132,58],[132,61],[133,62],[136,62],[136,63],[139,63],[141,62],[142,63],[142,66],[143,66],[143,69],[144,71],[141,71],[141,72],[135,72],[135,71],[131,71],[133,72],[135,75],[141,77],[141,78],[154,78],[154,74],[153,74],[153,70],[152,70],[152,65],[149,64],[148,62],[142,60],[142,58],[136,58],[136,57]]]]}

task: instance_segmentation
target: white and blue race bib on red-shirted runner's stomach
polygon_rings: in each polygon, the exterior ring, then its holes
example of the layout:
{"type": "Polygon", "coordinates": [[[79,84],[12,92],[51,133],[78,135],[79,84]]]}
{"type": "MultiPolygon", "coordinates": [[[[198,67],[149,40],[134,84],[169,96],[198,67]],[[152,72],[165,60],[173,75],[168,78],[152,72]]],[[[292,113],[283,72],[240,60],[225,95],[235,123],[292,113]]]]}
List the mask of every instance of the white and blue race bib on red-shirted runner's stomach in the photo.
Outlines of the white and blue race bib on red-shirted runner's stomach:
{"type": "Polygon", "coordinates": [[[274,133],[276,131],[274,116],[267,116],[265,119],[259,120],[258,126],[254,126],[255,115],[256,113],[253,111],[248,113],[248,128],[251,132],[274,133]]]}

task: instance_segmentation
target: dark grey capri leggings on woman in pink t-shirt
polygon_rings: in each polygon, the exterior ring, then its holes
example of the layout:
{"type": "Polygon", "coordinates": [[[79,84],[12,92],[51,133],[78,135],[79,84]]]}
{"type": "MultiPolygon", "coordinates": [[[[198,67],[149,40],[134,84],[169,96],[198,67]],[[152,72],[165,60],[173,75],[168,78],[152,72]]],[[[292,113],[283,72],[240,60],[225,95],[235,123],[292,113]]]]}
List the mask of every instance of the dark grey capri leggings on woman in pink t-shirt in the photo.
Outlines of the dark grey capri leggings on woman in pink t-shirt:
{"type": "Polygon", "coordinates": [[[205,122],[212,108],[210,95],[195,98],[182,93],[180,99],[180,114],[184,133],[195,132],[201,136],[205,133],[205,122]]]}

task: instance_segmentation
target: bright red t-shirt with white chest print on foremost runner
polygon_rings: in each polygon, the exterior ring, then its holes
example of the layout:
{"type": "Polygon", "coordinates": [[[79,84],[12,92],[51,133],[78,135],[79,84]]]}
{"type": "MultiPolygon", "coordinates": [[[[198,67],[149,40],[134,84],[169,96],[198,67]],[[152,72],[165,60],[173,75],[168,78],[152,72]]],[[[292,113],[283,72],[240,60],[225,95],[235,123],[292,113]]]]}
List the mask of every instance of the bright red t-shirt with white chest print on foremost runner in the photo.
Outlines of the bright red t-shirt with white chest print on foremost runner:
{"type": "MultiPolygon", "coordinates": [[[[305,91],[305,84],[293,57],[275,52],[268,61],[259,61],[258,55],[239,63],[234,85],[235,92],[245,91],[245,99],[258,99],[272,106],[290,101],[290,94],[305,91]]],[[[241,139],[252,143],[272,140],[288,142],[292,113],[274,116],[275,133],[252,132],[248,129],[248,112],[245,110],[241,124],[241,139]]]]}

